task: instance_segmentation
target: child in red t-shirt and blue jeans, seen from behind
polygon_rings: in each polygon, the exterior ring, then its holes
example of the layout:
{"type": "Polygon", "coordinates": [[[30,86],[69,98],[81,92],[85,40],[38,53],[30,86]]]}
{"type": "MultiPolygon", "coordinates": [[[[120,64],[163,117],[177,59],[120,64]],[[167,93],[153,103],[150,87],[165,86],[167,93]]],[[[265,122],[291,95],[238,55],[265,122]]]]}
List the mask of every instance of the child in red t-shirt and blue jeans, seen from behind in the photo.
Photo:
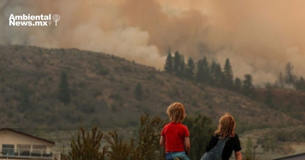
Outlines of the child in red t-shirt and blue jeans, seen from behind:
{"type": "Polygon", "coordinates": [[[189,130],[181,124],[185,118],[185,108],[175,102],[167,108],[166,112],[171,122],[164,126],[161,132],[160,145],[165,148],[166,160],[189,160],[191,145],[189,141],[189,130]]]}

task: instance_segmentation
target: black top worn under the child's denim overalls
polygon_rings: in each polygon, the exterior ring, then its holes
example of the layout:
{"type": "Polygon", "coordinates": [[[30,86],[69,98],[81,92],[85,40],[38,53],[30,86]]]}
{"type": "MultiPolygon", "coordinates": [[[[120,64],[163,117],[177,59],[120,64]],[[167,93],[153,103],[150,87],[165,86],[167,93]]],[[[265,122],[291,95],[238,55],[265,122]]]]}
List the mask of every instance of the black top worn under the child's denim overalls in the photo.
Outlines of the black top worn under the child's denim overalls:
{"type": "MultiPolygon", "coordinates": [[[[214,146],[216,146],[218,143],[218,136],[212,136],[211,141],[209,142],[209,145],[206,146],[206,151],[208,152],[209,150],[211,150],[214,146]]],[[[228,160],[231,157],[231,154],[233,152],[233,150],[235,152],[238,152],[240,150],[242,150],[242,148],[240,147],[240,142],[239,142],[239,138],[237,136],[237,134],[235,134],[235,137],[230,137],[226,144],[225,147],[222,150],[222,159],[223,160],[228,160]]]]}

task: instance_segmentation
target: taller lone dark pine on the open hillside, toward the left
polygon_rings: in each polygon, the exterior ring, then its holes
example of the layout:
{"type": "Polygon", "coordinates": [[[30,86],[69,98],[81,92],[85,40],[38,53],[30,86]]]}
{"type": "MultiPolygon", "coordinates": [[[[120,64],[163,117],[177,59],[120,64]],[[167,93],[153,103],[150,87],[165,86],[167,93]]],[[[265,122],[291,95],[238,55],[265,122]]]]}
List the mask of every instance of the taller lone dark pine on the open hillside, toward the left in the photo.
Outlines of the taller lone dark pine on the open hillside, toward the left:
{"type": "Polygon", "coordinates": [[[70,103],[71,101],[71,94],[68,84],[68,75],[64,71],[61,72],[60,74],[58,100],[65,104],[70,103]]]}

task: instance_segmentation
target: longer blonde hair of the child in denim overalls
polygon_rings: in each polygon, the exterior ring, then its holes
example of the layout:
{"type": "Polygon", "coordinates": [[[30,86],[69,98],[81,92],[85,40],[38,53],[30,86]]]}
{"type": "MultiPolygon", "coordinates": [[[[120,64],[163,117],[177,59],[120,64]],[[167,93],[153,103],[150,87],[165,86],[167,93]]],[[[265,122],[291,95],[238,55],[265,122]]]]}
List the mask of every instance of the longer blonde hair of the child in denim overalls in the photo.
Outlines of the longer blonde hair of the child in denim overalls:
{"type": "Polygon", "coordinates": [[[214,136],[218,135],[219,138],[225,138],[226,136],[235,137],[235,119],[229,114],[225,113],[218,124],[217,130],[214,131],[214,136]]]}

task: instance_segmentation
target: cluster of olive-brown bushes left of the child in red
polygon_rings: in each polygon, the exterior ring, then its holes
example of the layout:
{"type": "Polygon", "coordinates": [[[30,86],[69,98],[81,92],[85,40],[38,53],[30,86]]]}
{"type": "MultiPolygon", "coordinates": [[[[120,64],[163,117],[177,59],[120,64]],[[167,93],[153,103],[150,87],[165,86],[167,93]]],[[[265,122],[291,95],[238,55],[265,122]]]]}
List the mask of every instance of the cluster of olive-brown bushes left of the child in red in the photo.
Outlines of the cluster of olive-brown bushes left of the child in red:
{"type": "Polygon", "coordinates": [[[165,152],[159,146],[159,138],[165,121],[148,115],[142,115],[138,137],[124,142],[118,134],[109,132],[104,139],[105,146],[101,146],[103,133],[93,128],[91,133],[80,128],[77,138],[71,141],[71,150],[62,152],[63,160],[164,160],[165,152]],[[102,148],[100,150],[100,148],[102,148]]]}

